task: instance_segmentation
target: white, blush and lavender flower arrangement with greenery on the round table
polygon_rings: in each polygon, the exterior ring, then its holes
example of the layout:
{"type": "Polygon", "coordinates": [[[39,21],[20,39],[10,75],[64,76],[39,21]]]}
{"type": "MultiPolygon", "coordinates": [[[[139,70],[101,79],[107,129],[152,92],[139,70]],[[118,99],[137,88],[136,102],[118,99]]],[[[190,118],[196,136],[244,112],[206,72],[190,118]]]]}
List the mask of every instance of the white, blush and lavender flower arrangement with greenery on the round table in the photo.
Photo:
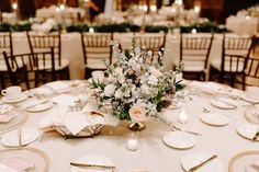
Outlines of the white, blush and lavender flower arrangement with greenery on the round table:
{"type": "Polygon", "coordinates": [[[162,72],[162,53],[154,60],[155,55],[137,47],[135,38],[130,51],[121,51],[116,43],[112,45],[116,62],[106,64],[104,77],[92,78],[97,103],[119,119],[144,122],[148,116],[157,116],[182,88],[182,66],[162,72]]]}

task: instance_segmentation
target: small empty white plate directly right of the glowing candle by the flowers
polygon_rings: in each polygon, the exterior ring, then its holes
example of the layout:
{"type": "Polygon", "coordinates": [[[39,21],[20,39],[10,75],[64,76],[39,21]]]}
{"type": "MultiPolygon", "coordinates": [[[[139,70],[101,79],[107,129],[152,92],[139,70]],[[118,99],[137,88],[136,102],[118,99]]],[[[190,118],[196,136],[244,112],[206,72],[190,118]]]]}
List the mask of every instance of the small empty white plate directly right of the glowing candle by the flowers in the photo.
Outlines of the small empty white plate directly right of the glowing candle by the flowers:
{"type": "Polygon", "coordinates": [[[202,122],[214,126],[224,126],[229,123],[229,118],[226,115],[218,113],[203,113],[201,119],[202,122]]]}

